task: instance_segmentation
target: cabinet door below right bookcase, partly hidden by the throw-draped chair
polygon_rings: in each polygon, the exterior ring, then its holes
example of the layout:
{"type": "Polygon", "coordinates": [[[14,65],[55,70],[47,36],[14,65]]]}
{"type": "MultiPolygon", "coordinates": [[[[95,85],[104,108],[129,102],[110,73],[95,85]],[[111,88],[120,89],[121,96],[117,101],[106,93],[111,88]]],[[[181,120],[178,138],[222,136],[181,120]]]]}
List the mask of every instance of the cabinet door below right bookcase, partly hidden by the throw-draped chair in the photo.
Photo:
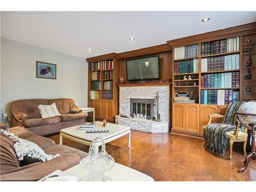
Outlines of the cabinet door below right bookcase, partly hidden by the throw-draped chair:
{"type": "MultiPolygon", "coordinates": [[[[218,113],[218,105],[213,104],[201,104],[200,105],[200,129],[199,132],[203,133],[203,126],[207,125],[209,121],[209,115],[218,113]]],[[[218,122],[217,118],[212,118],[211,122],[218,122]]]]}

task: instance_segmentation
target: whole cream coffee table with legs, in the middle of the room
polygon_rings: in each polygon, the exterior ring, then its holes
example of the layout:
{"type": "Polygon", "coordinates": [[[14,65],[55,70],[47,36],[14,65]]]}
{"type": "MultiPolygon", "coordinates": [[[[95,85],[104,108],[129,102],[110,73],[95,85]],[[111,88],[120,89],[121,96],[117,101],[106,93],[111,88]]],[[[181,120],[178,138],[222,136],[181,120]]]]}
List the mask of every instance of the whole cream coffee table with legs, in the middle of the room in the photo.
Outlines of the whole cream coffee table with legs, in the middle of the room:
{"type": "MultiPolygon", "coordinates": [[[[110,141],[113,141],[117,138],[120,138],[128,134],[128,148],[131,148],[131,129],[129,126],[108,123],[106,124],[105,129],[109,130],[109,133],[87,133],[87,131],[80,131],[79,130],[80,126],[81,125],[76,125],[76,126],[72,126],[72,127],[68,127],[66,129],[60,130],[59,144],[62,144],[63,137],[82,143],[82,144],[91,145],[92,141],[96,137],[101,137],[105,140],[105,143],[108,143],[110,141]]],[[[103,128],[103,122],[96,121],[96,129],[102,129],[102,128],[103,128]]],[[[94,153],[99,152],[100,145],[101,145],[100,141],[98,141],[95,144],[94,153]]]]}

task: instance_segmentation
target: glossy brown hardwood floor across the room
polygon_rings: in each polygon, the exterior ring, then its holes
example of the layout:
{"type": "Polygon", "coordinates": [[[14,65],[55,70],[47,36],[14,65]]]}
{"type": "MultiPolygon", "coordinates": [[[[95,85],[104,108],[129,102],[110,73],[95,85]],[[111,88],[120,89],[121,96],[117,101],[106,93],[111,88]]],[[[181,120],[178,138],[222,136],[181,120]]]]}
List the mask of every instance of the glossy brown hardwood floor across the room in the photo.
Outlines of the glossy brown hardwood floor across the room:
{"type": "MultiPolygon", "coordinates": [[[[204,140],[176,134],[152,134],[132,130],[131,149],[127,135],[106,144],[106,151],[117,163],[129,166],[154,178],[155,181],[256,181],[256,161],[244,173],[242,147],[214,155],[204,149],[204,140]]],[[[59,143],[59,135],[48,138],[59,143]]],[[[63,138],[63,144],[88,152],[89,146],[63,138]]]]}

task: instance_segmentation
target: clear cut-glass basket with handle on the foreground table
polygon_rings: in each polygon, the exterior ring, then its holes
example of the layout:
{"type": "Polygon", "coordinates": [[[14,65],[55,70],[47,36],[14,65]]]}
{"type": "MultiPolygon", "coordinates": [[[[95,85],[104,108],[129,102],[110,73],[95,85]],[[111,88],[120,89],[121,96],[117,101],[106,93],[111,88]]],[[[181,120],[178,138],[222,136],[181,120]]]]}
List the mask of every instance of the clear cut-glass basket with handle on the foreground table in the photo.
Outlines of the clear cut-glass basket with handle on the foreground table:
{"type": "Polygon", "coordinates": [[[86,168],[88,174],[81,177],[78,181],[112,181],[108,176],[104,175],[106,170],[111,169],[115,160],[113,157],[108,155],[105,150],[105,141],[100,137],[96,137],[89,149],[89,155],[80,161],[83,168],[86,168]],[[101,141],[101,152],[93,154],[95,143],[101,141]]]}

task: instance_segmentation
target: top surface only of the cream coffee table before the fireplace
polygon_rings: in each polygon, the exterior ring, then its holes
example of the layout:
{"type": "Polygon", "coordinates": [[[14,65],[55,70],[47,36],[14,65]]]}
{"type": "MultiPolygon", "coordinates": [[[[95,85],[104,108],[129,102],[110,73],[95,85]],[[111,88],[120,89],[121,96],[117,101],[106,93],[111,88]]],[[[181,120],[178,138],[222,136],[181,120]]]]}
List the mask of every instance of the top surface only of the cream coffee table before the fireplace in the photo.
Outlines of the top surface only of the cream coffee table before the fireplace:
{"type": "Polygon", "coordinates": [[[106,130],[109,130],[109,133],[87,133],[87,130],[84,130],[84,131],[79,130],[80,126],[81,125],[76,125],[66,129],[62,129],[60,130],[60,133],[64,133],[79,139],[92,142],[96,137],[108,139],[110,137],[116,136],[120,133],[130,130],[130,127],[128,126],[113,124],[113,123],[107,123],[106,127],[103,127],[103,122],[101,121],[96,121],[96,129],[105,128],[106,130]]]}

